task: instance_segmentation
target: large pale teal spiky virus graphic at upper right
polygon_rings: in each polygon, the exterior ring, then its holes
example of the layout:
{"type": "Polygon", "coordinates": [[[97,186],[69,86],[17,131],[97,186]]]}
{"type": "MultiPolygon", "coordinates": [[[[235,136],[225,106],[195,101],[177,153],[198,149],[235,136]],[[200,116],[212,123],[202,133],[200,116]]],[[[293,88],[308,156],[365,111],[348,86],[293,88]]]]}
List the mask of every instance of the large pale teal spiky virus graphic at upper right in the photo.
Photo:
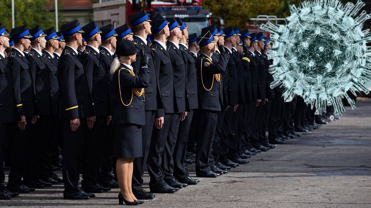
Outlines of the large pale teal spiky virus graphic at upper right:
{"type": "Polygon", "coordinates": [[[303,1],[299,8],[290,5],[286,25],[263,24],[260,29],[274,43],[269,72],[275,81],[270,87],[283,85],[285,101],[299,95],[316,107],[316,114],[327,104],[341,116],[344,97],[354,110],[347,91],[368,94],[365,83],[371,80],[371,49],[366,46],[371,33],[361,29],[370,14],[362,11],[355,17],[364,5],[361,0],[345,6],[338,0],[303,1]]]}

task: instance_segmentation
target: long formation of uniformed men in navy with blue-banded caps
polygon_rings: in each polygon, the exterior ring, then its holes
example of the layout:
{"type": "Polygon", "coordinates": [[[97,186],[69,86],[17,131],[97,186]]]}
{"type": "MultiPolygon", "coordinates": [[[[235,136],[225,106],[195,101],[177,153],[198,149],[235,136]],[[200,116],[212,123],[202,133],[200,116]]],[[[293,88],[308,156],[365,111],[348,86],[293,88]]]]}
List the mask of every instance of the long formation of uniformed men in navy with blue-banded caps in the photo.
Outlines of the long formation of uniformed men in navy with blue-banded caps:
{"type": "MultiPolygon", "coordinates": [[[[188,174],[187,145],[196,144],[196,176],[217,177],[300,135],[282,130],[286,114],[293,113],[275,105],[286,103],[282,88],[270,88],[266,53],[271,43],[262,33],[211,25],[198,36],[188,35],[180,19],[160,14],[150,19],[144,10],[129,21],[132,29],[127,24],[98,28],[94,22],[81,27],[75,20],[63,24],[59,36],[54,28],[13,28],[12,52],[9,57],[0,53],[0,133],[5,135],[0,164],[8,147],[13,164],[1,198],[62,182],[50,167],[60,135],[65,199],[89,199],[122,187],[120,174],[115,174],[118,181],[110,174],[113,155],[114,172],[117,158],[117,164],[120,158],[135,158],[130,181],[135,201],[155,197],[142,188],[146,165],[153,193],[199,182],[188,174]],[[124,71],[139,78],[143,68],[149,73],[140,87],[132,87],[131,96],[131,85],[117,83],[110,73],[116,56],[131,56],[116,48],[122,40],[141,51],[124,71]],[[129,88],[117,88],[121,85],[129,88]],[[122,127],[128,123],[141,127],[134,133],[133,126],[122,127]],[[125,131],[135,142],[125,141],[125,131]]],[[[1,52],[10,44],[2,25],[0,32],[1,52]]],[[[4,182],[3,170],[0,175],[4,182]]]]}

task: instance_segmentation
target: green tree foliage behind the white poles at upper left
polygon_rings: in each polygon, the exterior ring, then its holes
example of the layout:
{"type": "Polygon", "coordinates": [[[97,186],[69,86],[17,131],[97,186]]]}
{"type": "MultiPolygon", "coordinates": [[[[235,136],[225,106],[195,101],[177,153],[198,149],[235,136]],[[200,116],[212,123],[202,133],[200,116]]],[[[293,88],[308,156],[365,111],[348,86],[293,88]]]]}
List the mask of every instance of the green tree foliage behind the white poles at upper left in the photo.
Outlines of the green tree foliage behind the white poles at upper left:
{"type": "MultiPolygon", "coordinates": [[[[63,7],[63,0],[58,0],[58,11],[63,7]]],[[[14,0],[15,27],[26,24],[29,28],[39,24],[43,29],[55,27],[54,1],[52,0],[14,0]]],[[[12,1],[0,1],[1,20],[6,30],[12,30],[12,1]]],[[[64,23],[58,12],[59,25],[64,23]]],[[[56,28],[58,30],[58,28],[56,28]]]]}

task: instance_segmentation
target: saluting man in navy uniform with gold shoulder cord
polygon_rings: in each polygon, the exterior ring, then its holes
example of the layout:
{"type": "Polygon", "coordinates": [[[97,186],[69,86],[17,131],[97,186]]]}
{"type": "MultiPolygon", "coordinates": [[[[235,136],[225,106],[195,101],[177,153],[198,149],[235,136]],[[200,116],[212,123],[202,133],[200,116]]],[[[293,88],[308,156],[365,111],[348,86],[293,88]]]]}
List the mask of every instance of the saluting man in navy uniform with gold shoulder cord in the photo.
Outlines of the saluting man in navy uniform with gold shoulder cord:
{"type": "Polygon", "coordinates": [[[196,130],[196,175],[197,177],[217,177],[219,174],[211,171],[209,158],[213,145],[218,112],[223,106],[223,85],[220,84],[220,74],[226,70],[230,55],[225,53],[223,46],[219,45],[221,52],[218,62],[213,63],[211,56],[215,51],[216,40],[212,34],[207,33],[197,36],[197,45],[202,51],[197,58],[196,68],[198,88],[200,89],[201,106],[197,111],[196,119],[199,125],[196,130]]]}

